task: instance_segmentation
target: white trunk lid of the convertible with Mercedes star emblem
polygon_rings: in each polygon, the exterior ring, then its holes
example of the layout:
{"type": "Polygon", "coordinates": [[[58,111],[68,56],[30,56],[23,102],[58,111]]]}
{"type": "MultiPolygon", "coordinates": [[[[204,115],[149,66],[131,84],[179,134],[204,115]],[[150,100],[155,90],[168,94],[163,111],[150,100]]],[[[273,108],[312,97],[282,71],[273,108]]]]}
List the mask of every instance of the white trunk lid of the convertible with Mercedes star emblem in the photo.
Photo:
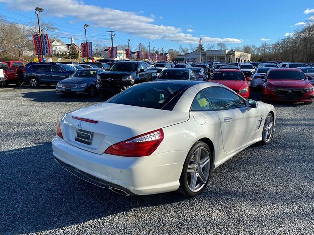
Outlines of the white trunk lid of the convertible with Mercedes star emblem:
{"type": "Polygon", "coordinates": [[[102,154],[115,143],[188,119],[189,112],[100,103],[68,113],[60,126],[67,143],[102,154]],[[98,123],[73,119],[72,116],[94,120],[98,123]],[[90,145],[75,140],[79,129],[93,133],[90,145]]]}

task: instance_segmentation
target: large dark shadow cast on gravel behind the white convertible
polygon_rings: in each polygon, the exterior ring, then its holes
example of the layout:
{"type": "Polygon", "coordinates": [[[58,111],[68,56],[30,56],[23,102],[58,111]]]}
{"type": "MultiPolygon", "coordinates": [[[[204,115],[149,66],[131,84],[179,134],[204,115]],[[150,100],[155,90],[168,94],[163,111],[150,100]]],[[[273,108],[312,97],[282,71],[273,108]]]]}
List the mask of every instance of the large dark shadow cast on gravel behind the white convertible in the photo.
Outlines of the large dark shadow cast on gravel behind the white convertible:
{"type": "Polygon", "coordinates": [[[85,182],[54,160],[51,142],[0,155],[0,234],[46,231],[185,200],[176,193],[125,197],[85,182]]]}

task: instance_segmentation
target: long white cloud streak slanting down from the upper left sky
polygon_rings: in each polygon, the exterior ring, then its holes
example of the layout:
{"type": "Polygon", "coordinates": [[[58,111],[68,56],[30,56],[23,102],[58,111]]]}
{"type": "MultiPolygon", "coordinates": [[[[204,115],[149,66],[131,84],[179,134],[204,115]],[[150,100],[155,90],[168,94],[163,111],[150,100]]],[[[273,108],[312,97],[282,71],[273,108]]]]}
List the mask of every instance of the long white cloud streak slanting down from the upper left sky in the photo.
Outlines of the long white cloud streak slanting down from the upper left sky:
{"type": "MultiPolygon", "coordinates": [[[[35,4],[42,4],[42,0],[0,1],[7,3],[11,9],[21,11],[33,11],[35,4]]],[[[88,5],[78,0],[45,0],[43,8],[47,16],[71,17],[73,21],[87,21],[86,23],[93,27],[110,28],[147,39],[163,39],[178,43],[198,43],[199,41],[199,37],[182,33],[181,28],[154,24],[154,15],[147,17],[135,12],[88,5]]],[[[203,42],[241,43],[242,41],[236,38],[203,38],[203,42]]]]}

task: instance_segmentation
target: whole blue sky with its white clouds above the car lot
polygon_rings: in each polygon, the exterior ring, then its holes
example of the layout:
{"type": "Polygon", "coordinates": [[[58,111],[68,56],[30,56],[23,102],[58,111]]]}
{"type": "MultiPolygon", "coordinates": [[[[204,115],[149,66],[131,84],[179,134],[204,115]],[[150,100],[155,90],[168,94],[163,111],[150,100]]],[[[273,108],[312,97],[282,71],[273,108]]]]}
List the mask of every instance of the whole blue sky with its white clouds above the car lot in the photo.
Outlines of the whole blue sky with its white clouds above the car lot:
{"type": "Polygon", "coordinates": [[[225,42],[228,48],[273,43],[303,27],[314,13],[314,0],[0,0],[0,14],[27,25],[36,20],[36,6],[44,8],[41,20],[58,28],[50,37],[65,43],[71,36],[84,41],[83,26],[89,24],[87,39],[93,44],[109,45],[106,31],[113,29],[115,45],[131,39],[134,48],[153,41],[151,48],[165,50],[197,45],[200,37],[204,44],[225,42]]]}

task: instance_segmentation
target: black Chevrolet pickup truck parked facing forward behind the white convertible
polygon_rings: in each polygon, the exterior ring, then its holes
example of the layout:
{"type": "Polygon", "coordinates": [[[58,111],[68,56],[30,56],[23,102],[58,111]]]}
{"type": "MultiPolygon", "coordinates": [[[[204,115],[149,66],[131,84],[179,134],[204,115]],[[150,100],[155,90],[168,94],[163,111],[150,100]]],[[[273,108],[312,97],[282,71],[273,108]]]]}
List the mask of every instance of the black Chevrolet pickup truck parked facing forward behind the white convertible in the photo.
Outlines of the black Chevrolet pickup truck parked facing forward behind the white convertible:
{"type": "Polygon", "coordinates": [[[116,62],[109,71],[97,76],[96,87],[99,94],[106,95],[123,91],[136,83],[153,81],[156,77],[156,71],[148,71],[144,62],[116,62]]]}

